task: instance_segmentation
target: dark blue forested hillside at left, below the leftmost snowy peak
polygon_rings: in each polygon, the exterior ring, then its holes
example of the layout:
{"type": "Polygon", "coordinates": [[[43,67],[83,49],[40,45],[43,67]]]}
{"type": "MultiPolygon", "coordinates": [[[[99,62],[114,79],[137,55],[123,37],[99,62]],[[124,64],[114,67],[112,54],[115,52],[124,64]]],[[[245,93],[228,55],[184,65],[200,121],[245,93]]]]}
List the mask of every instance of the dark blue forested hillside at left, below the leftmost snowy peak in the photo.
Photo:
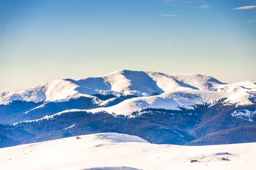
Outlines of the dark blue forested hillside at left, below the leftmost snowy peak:
{"type": "MultiPolygon", "coordinates": [[[[126,99],[137,97],[134,95],[121,95],[116,97],[111,94],[95,94],[94,96],[97,97],[96,100],[107,100],[110,98],[115,98],[113,101],[104,105],[105,107],[113,106],[126,99]]],[[[50,116],[69,109],[92,109],[97,107],[99,106],[93,101],[92,98],[84,96],[81,96],[77,99],[70,99],[66,102],[35,103],[17,100],[10,102],[8,105],[0,105],[0,124],[12,124],[25,120],[39,119],[46,115],[50,116]],[[40,105],[41,107],[38,107],[40,105]]]]}

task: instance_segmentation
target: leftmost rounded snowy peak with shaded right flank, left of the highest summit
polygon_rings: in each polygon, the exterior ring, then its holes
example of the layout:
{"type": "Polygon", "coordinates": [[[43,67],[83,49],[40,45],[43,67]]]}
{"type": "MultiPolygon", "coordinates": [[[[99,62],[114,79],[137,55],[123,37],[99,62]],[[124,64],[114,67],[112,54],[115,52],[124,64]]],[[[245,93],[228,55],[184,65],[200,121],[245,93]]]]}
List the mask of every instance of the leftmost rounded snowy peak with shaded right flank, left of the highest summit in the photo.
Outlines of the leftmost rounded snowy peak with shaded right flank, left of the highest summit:
{"type": "Polygon", "coordinates": [[[81,83],[76,83],[75,80],[61,79],[25,90],[2,92],[0,93],[0,104],[13,100],[33,102],[68,101],[69,99],[79,98],[80,96],[93,97],[91,96],[92,94],[120,95],[116,91],[91,89],[81,85],[81,83]]]}

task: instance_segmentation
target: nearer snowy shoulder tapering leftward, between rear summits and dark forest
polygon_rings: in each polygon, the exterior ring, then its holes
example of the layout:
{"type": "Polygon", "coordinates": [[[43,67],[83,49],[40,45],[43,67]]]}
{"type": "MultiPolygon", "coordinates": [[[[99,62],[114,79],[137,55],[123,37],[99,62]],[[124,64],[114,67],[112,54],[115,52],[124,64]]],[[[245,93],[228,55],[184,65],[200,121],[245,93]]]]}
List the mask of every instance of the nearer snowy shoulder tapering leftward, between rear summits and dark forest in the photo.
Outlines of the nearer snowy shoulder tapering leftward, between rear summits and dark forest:
{"type": "Polygon", "coordinates": [[[248,99],[253,95],[244,93],[224,93],[215,91],[173,91],[166,92],[157,96],[145,96],[127,99],[117,105],[111,107],[100,107],[90,110],[78,110],[72,109],[63,111],[87,111],[96,113],[99,111],[106,111],[108,113],[131,115],[134,111],[141,111],[145,108],[165,108],[171,110],[180,110],[178,107],[192,108],[195,104],[214,103],[219,99],[227,98],[224,102],[237,103],[238,105],[249,105],[251,104],[248,99]]]}

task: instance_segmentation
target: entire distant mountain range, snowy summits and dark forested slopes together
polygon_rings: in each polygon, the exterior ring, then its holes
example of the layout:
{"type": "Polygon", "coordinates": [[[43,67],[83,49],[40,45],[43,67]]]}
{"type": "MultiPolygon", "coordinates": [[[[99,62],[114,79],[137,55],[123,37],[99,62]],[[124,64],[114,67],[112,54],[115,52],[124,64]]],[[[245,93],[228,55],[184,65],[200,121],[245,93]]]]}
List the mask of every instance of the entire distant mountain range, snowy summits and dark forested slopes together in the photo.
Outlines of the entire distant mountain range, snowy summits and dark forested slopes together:
{"type": "Polygon", "coordinates": [[[256,142],[256,83],[129,70],[61,79],[1,92],[0,124],[0,147],[102,132],[158,144],[256,142]]]}

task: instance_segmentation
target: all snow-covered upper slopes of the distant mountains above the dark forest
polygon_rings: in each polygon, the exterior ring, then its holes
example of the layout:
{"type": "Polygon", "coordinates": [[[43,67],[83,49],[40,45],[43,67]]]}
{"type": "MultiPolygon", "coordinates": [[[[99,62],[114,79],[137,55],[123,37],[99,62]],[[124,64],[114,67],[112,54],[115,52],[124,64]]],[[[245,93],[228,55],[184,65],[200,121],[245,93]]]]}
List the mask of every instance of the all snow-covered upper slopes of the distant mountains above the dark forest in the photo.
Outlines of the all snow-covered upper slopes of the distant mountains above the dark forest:
{"type": "Polygon", "coordinates": [[[28,89],[1,92],[0,104],[13,100],[61,102],[86,96],[92,97],[97,105],[104,106],[113,100],[102,101],[93,94],[138,96],[108,108],[90,110],[127,115],[144,108],[192,108],[195,104],[213,103],[223,98],[230,104],[250,105],[256,99],[256,83],[227,84],[200,74],[119,70],[102,77],[61,79],[28,89]]]}

